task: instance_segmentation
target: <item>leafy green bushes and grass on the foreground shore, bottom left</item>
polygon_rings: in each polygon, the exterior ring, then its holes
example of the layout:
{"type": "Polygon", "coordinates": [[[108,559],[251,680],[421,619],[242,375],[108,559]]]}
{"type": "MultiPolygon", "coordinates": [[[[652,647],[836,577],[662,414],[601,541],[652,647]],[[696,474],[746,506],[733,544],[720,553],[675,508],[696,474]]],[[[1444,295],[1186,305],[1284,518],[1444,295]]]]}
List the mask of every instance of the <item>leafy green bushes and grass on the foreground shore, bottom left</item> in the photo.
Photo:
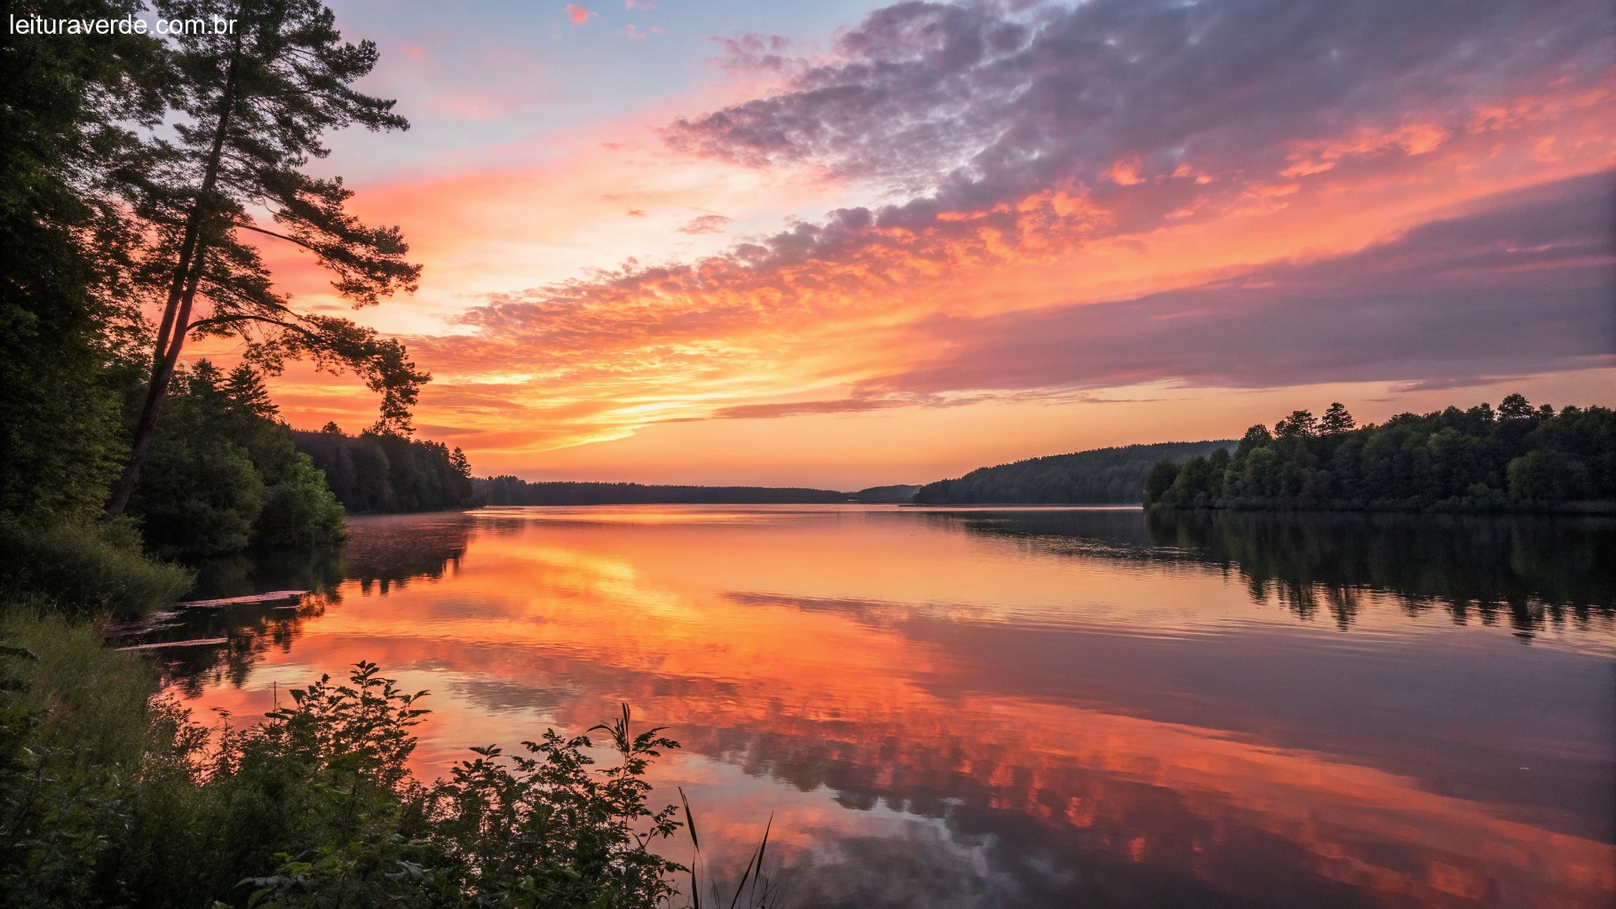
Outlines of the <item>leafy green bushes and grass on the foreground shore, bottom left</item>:
{"type": "Polygon", "coordinates": [[[208,746],[173,706],[147,712],[145,665],[82,626],[11,615],[0,635],[39,654],[0,657],[19,668],[0,694],[6,906],[632,909],[675,893],[682,869],[650,849],[675,809],[646,807],[645,773],[677,743],[635,733],[627,707],[590,730],[617,752],[604,769],[590,735],[548,730],[423,785],[407,760],[425,693],[375,664],[208,746]]]}

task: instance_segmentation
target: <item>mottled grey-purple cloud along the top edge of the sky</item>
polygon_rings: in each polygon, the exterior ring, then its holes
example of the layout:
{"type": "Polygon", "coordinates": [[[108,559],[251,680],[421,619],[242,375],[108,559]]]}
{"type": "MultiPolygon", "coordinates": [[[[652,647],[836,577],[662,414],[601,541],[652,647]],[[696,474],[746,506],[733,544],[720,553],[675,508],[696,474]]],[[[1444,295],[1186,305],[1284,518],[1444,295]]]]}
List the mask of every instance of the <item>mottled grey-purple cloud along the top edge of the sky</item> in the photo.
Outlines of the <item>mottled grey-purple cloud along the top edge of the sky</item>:
{"type": "MultiPolygon", "coordinates": [[[[735,57],[758,53],[737,40],[735,57]]],[[[945,208],[1097,184],[1125,161],[1131,184],[1243,192],[1430,150],[1485,128],[1503,98],[1479,102],[1500,89],[1608,94],[1613,58],[1608,8],[1590,0],[898,3],[785,90],[680,118],[666,139],[932,191],[945,208]]]]}

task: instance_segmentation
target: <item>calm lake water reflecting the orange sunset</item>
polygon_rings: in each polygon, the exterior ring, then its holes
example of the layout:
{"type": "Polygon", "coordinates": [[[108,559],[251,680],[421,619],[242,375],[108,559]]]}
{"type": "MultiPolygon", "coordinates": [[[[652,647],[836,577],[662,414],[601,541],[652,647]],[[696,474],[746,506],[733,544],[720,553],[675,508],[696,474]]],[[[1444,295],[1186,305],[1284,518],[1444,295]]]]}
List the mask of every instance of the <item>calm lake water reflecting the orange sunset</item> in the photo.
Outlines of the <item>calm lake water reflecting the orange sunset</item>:
{"type": "MultiPolygon", "coordinates": [[[[359,659],[417,770],[619,701],[708,857],[800,906],[1600,906],[1616,523],[1136,509],[485,509],[217,568],[208,709],[359,659]],[[711,843],[708,843],[711,841],[711,843]],[[718,848],[713,848],[713,846],[718,848]]],[[[675,857],[684,857],[677,849],[675,857]]]]}

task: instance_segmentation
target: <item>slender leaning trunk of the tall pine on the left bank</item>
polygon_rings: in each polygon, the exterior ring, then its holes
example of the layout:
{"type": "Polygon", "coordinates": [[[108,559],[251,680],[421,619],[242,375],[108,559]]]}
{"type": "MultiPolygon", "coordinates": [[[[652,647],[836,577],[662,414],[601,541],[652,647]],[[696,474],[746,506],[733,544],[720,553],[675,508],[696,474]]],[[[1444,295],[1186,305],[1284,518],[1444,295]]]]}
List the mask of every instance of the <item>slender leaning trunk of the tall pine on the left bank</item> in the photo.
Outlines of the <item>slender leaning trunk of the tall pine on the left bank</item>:
{"type": "Polygon", "coordinates": [[[241,36],[236,36],[229,55],[229,71],[225,74],[225,90],[220,97],[218,126],[213,129],[213,149],[208,153],[207,171],[202,176],[202,189],[191,205],[186,218],[186,236],[179,244],[179,260],[175,263],[175,278],[168,286],[168,300],[163,304],[163,323],[157,333],[157,344],[152,346],[152,378],[145,384],[145,402],[141,407],[141,418],[134,425],[134,438],[129,446],[129,462],[123,467],[123,475],[112,488],[107,502],[107,517],[115,518],[129,507],[129,497],[141,483],[141,465],[145,452],[152,449],[157,438],[157,420],[163,415],[163,400],[168,397],[168,384],[175,378],[175,367],[179,363],[179,350],[186,344],[186,331],[191,329],[191,305],[196,302],[197,287],[202,283],[202,266],[207,258],[207,242],[202,239],[204,221],[212,215],[213,187],[218,184],[220,160],[225,152],[225,134],[229,129],[229,115],[236,107],[236,68],[241,61],[241,36]]]}

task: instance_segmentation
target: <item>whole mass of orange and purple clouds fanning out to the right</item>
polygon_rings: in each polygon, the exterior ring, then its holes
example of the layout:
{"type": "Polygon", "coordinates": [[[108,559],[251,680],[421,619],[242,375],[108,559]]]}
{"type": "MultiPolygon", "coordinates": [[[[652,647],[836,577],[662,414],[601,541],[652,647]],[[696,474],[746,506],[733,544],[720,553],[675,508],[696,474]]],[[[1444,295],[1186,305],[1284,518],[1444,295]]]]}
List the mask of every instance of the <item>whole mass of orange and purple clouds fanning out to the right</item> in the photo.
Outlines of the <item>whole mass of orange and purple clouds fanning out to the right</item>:
{"type": "Polygon", "coordinates": [[[675,119],[666,144],[876,202],[488,295],[457,334],[410,339],[433,396],[509,383],[532,434],[575,444],[1141,383],[1610,365],[1600,3],[900,3],[829,58],[726,47],[784,87],[675,119]]]}

